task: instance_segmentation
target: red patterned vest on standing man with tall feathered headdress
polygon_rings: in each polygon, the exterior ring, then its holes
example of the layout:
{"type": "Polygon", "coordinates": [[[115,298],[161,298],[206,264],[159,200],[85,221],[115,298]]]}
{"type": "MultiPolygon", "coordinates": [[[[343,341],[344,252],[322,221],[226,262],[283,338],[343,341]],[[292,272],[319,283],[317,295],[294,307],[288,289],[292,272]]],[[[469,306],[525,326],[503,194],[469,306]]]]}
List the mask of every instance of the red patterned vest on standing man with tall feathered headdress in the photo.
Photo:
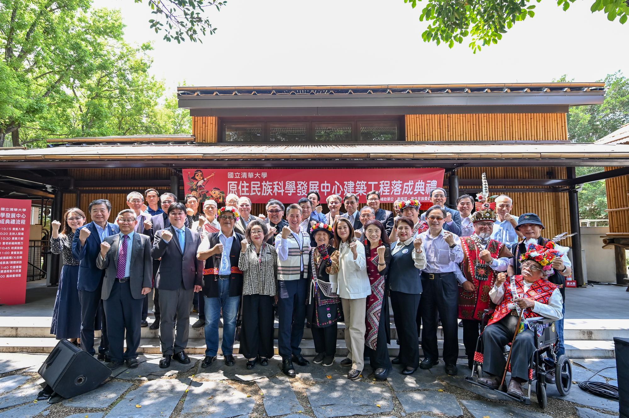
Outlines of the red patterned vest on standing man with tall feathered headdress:
{"type": "MultiPolygon", "coordinates": [[[[475,292],[465,292],[462,287],[459,288],[459,319],[482,319],[485,309],[491,307],[492,302],[489,297],[489,290],[494,285],[496,272],[491,266],[482,261],[478,254],[483,248],[479,248],[476,241],[470,236],[462,236],[461,247],[465,258],[461,263],[461,271],[465,278],[474,283],[475,292]],[[469,276],[471,273],[471,277],[469,276]]],[[[491,253],[492,258],[498,258],[504,244],[495,239],[490,239],[487,250],[491,253]]]]}

